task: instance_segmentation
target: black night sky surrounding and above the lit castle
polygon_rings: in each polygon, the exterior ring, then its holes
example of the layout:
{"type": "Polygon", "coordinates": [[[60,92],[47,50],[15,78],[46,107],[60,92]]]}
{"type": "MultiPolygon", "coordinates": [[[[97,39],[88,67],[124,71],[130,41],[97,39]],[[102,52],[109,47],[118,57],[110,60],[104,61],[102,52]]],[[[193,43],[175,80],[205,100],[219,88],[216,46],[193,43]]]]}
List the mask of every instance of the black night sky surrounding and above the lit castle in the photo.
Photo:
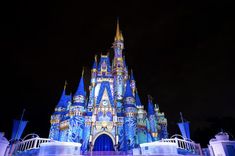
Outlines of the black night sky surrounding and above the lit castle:
{"type": "MultiPolygon", "coordinates": [[[[232,1],[18,1],[1,5],[0,131],[29,120],[27,133],[47,137],[64,81],[75,92],[94,55],[111,52],[116,18],[125,56],[146,105],[147,95],[179,133],[179,112],[192,139],[208,143],[221,128],[235,135],[232,1]]],[[[88,83],[86,83],[88,88],[88,83]]]]}

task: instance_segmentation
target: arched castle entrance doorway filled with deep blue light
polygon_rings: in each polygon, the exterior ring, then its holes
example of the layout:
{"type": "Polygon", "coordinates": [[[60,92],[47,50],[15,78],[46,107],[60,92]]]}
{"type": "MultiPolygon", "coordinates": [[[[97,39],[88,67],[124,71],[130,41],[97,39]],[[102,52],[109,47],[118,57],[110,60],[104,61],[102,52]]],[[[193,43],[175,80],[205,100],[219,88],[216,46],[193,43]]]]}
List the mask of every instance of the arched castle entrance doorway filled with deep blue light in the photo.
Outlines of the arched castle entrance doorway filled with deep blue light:
{"type": "Polygon", "coordinates": [[[113,140],[107,134],[101,134],[95,140],[93,151],[114,151],[113,140]]]}

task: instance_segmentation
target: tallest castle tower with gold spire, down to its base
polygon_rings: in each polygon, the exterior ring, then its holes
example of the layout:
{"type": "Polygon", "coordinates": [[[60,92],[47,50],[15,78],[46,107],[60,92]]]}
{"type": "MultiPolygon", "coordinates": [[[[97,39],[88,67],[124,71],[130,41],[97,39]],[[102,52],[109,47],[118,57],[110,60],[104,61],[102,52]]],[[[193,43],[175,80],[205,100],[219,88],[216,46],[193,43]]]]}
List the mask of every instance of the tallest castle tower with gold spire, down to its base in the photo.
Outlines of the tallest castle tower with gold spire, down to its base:
{"type": "Polygon", "coordinates": [[[123,96],[125,91],[125,83],[127,76],[127,68],[125,64],[125,59],[123,58],[123,49],[124,49],[124,38],[122,32],[119,28],[119,21],[117,20],[116,35],[113,43],[114,50],[114,59],[113,59],[113,69],[112,74],[114,78],[114,100],[117,112],[117,141],[119,150],[124,150],[124,109],[123,109],[123,96]]]}

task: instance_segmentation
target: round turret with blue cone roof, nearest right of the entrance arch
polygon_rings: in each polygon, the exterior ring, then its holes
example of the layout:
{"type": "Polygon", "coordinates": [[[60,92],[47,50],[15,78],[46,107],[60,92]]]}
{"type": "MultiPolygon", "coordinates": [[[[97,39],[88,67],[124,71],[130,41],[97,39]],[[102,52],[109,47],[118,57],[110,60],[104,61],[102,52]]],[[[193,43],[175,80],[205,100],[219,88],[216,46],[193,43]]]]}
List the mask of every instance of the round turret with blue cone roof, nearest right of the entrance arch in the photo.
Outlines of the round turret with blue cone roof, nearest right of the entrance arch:
{"type": "Polygon", "coordinates": [[[124,95],[124,131],[125,131],[125,142],[127,149],[132,149],[136,145],[136,129],[137,129],[137,109],[135,97],[132,95],[130,81],[126,82],[126,91],[124,95]]]}

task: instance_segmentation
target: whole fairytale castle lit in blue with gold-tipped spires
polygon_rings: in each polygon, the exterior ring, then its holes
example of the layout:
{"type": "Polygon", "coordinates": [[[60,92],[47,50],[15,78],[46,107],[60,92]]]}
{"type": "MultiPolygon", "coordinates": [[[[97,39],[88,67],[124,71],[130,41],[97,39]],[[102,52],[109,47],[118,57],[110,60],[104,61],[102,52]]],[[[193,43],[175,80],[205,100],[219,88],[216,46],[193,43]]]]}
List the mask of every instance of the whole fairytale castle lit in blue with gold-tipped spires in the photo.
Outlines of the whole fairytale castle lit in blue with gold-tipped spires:
{"type": "Polygon", "coordinates": [[[114,58],[95,57],[89,94],[83,74],[77,91],[66,95],[66,85],[51,116],[49,138],[80,142],[82,151],[125,151],[139,144],[166,138],[167,119],[148,96],[148,111],[139,98],[133,72],[122,54],[124,39],[117,22],[114,58]]]}

